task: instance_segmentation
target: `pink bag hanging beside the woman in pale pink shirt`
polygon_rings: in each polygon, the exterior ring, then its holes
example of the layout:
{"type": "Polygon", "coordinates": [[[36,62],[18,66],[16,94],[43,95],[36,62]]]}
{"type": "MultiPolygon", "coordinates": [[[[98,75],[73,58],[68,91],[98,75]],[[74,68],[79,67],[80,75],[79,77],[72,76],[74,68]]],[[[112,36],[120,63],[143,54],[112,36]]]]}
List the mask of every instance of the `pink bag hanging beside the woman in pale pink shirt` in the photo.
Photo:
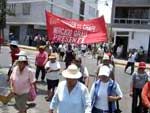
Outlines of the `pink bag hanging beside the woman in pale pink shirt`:
{"type": "Polygon", "coordinates": [[[36,91],[33,85],[31,85],[28,93],[28,101],[34,101],[36,99],[36,91]]]}

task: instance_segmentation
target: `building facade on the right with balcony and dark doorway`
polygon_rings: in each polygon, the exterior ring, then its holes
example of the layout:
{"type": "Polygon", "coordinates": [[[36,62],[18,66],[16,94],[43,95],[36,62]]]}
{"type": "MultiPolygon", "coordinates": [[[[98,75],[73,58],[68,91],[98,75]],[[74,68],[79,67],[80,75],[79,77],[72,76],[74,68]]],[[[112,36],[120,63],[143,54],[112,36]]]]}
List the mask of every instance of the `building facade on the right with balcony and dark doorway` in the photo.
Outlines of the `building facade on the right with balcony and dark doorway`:
{"type": "Polygon", "coordinates": [[[124,54],[140,46],[149,53],[150,0],[114,0],[111,27],[114,43],[123,45],[124,54]]]}

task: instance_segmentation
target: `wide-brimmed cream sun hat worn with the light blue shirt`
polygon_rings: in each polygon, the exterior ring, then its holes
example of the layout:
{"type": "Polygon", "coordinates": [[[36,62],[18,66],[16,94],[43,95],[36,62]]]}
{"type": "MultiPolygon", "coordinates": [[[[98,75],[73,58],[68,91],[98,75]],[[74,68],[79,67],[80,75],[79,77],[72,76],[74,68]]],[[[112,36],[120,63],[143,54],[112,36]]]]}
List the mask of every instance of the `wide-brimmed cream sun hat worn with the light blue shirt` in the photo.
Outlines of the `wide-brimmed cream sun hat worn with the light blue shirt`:
{"type": "Polygon", "coordinates": [[[68,68],[62,72],[62,75],[63,77],[69,79],[79,79],[82,76],[81,72],[75,64],[68,66],[68,68]]]}

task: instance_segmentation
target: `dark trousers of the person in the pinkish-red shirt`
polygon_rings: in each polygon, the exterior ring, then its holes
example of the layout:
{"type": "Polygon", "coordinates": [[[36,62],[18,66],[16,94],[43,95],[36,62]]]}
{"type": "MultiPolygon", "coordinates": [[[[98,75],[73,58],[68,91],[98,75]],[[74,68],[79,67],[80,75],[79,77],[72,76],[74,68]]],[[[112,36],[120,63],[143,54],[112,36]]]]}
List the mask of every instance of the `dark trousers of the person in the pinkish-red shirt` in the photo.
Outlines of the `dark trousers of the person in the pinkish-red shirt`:
{"type": "Polygon", "coordinates": [[[36,73],[35,73],[36,80],[38,80],[39,78],[40,71],[42,71],[41,80],[44,80],[45,79],[45,67],[44,66],[36,66],[36,73]]]}

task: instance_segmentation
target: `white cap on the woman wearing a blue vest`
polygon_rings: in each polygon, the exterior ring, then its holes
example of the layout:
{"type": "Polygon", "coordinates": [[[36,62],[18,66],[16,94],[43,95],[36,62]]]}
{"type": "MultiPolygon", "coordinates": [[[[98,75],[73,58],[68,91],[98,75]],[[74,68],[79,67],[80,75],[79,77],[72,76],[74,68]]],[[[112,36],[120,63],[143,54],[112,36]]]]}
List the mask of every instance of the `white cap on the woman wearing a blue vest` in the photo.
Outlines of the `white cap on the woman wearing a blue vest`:
{"type": "Polygon", "coordinates": [[[108,66],[101,66],[98,76],[106,76],[109,77],[110,75],[110,68],[108,66]]]}

